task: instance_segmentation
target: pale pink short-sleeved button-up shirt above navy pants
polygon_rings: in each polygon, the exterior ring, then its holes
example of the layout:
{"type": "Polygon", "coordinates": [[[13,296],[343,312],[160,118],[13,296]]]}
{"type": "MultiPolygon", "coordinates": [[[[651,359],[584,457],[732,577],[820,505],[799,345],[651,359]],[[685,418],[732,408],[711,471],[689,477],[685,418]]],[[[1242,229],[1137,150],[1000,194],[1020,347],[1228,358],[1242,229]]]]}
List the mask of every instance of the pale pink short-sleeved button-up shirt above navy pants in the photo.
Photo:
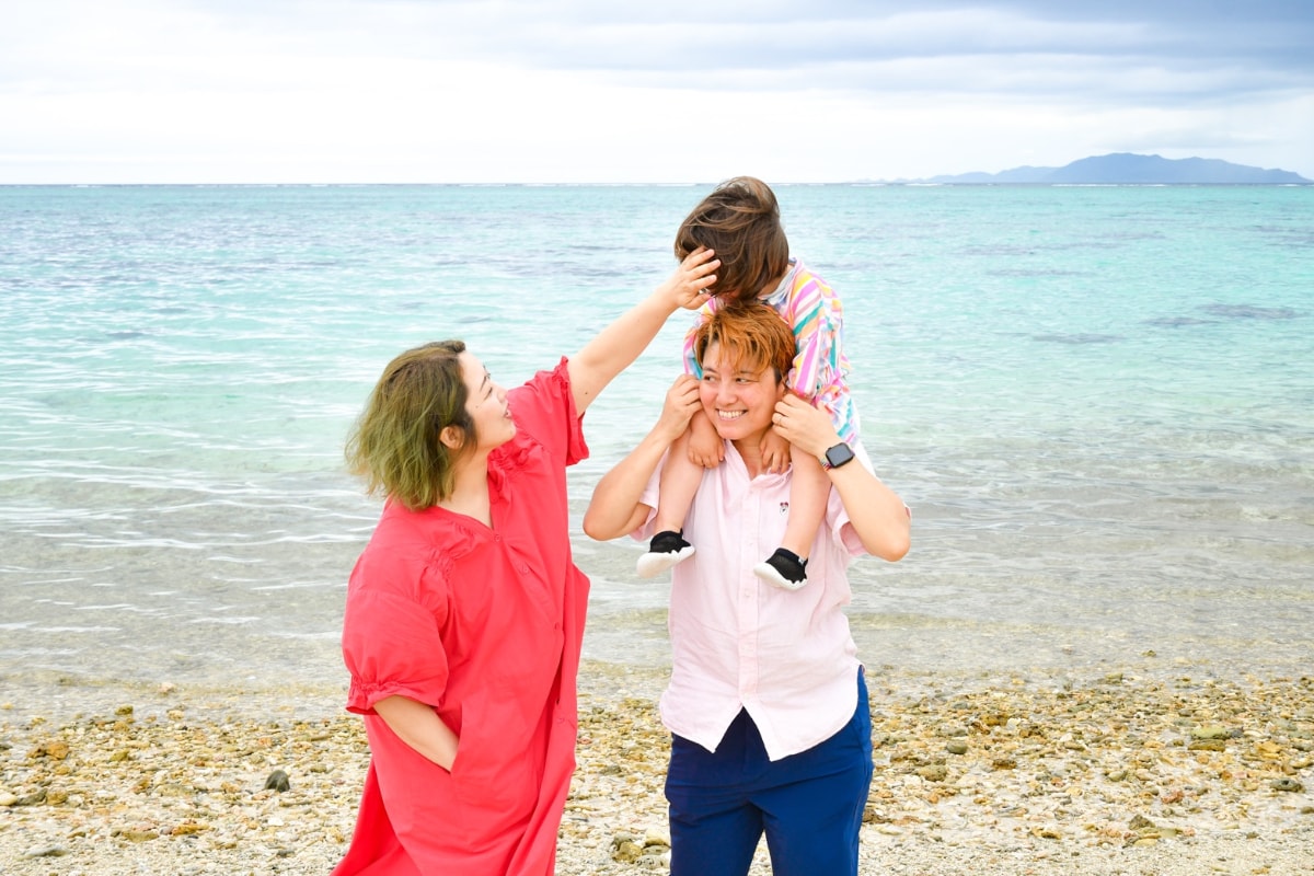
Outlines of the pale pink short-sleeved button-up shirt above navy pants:
{"type": "MultiPolygon", "coordinates": [[[[861,449],[858,464],[871,468],[861,449]]],[[[632,533],[641,541],[653,536],[660,477],[661,466],[640,498],[654,508],[632,533]]],[[[727,441],[725,461],[703,473],[685,519],[696,553],[671,570],[673,668],[661,716],[671,733],[708,751],[741,708],[771,760],[830,738],[857,708],[858,649],[842,608],[851,595],[849,561],[866,550],[832,489],[808,583],[787,591],[761,580],[753,566],[781,546],[788,507],[790,473],[750,479],[727,441]]]]}

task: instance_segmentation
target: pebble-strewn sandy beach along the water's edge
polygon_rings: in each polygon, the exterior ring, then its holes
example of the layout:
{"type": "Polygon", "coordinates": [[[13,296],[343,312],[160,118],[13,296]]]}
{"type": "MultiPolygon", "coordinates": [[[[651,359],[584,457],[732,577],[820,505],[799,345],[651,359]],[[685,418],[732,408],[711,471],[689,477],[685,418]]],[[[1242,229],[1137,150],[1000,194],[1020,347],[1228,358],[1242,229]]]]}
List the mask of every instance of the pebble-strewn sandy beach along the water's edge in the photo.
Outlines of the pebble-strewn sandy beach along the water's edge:
{"type": "MultiPolygon", "coordinates": [[[[661,683],[585,667],[557,873],[669,868],[661,683]]],[[[869,683],[863,873],[1314,872],[1311,676],[869,683]]],[[[368,747],[338,691],[7,688],[3,873],[326,873],[346,848],[368,747]]]]}

